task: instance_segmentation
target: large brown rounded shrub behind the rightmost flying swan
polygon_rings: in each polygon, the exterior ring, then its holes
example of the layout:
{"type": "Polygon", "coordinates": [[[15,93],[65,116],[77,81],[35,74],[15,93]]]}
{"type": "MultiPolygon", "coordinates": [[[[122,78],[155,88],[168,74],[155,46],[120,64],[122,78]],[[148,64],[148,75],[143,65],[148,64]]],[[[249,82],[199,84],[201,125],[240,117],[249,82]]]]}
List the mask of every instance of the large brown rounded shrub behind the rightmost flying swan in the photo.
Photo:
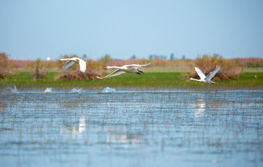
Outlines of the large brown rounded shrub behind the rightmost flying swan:
{"type": "Polygon", "coordinates": [[[222,81],[236,79],[237,74],[239,74],[236,63],[232,63],[232,61],[229,61],[222,57],[204,54],[203,56],[198,55],[197,59],[194,61],[194,66],[191,65],[190,77],[199,78],[197,72],[194,70],[194,67],[199,67],[199,69],[204,72],[205,75],[207,75],[211,71],[215,70],[216,65],[220,66],[220,70],[217,74],[215,74],[213,80],[222,81]]]}

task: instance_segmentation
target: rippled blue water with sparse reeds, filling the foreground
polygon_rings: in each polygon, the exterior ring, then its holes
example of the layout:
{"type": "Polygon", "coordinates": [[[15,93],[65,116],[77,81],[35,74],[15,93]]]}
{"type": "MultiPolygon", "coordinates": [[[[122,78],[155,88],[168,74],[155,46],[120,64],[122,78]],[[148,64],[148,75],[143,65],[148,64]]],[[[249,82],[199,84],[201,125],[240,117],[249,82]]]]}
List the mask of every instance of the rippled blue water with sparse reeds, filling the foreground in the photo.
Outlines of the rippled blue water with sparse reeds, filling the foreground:
{"type": "Polygon", "coordinates": [[[262,90],[0,93],[1,166],[262,166],[262,90]]]}

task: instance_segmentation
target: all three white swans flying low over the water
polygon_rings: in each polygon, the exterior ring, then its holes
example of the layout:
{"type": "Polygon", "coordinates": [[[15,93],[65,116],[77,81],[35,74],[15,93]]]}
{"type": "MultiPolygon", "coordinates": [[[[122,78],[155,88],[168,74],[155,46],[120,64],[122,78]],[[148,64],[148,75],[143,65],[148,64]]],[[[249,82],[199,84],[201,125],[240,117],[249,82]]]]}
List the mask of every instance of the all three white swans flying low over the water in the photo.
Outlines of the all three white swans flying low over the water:
{"type": "MultiPolygon", "coordinates": [[[[85,72],[86,71],[86,67],[87,67],[87,62],[83,61],[81,58],[61,58],[60,61],[67,61],[64,65],[64,67],[62,68],[62,72],[64,72],[66,69],[68,69],[69,67],[71,67],[71,65],[75,64],[75,63],[79,63],[80,65],[80,71],[81,72],[85,72]]],[[[145,67],[147,65],[150,65],[150,63],[145,64],[145,65],[137,65],[137,64],[132,64],[132,65],[123,65],[122,67],[118,67],[118,66],[106,66],[104,67],[104,69],[117,69],[114,72],[112,72],[111,74],[108,74],[106,77],[98,77],[98,79],[104,79],[104,78],[108,78],[108,77],[115,77],[117,75],[123,74],[125,72],[128,73],[135,73],[135,74],[141,74],[144,73],[143,70],[139,70],[139,67],[145,67]]],[[[216,65],[215,70],[213,70],[212,72],[210,72],[207,76],[201,72],[201,70],[198,67],[194,67],[194,69],[196,70],[197,74],[199,75],[200,79],[192,79],[190,78],[190,81],[199,81],[199,82],[203,82],[205,84],[215,84],[215,82],[211,81],[211,79],[213,79],[213,77],[215,76],[215,74],[218,72],[218,70],[220,70],[220,66],[216,65]]]]}

